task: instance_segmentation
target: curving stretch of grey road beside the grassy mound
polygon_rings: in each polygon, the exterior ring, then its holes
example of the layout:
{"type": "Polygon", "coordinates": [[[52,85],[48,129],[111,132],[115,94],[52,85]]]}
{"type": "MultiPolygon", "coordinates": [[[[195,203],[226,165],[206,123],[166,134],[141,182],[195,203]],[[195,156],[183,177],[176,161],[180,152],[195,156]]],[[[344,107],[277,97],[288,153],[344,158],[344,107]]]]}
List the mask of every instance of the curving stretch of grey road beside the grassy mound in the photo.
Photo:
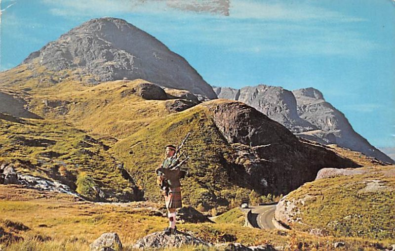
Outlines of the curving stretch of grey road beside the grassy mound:
{"type": "Polygon", "coordinates": [[[261,229],[275,229],[272,222],[277,204],[252,207],[249,222],[253,227],[261,229]]]}

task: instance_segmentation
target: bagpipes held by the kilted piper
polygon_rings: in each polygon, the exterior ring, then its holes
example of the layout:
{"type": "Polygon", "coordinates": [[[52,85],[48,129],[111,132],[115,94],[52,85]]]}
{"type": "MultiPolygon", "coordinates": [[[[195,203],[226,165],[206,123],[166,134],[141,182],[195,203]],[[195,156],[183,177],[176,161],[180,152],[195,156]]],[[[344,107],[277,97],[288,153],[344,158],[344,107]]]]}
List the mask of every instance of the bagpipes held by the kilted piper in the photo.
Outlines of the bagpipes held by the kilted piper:
{"type": "MultiPolygon", "coordinates": [[[[177,170],[182,167],[182,165],[189,160],[189,156],[186,151],[181,152],[182,147],[184,146],[185,142],[188,140],[189,135],[191,132],[188,132],[181,144],[177,147],[176,152],[173,155],[173,158],[175,158],[175,161],[172,161],[172,165],[168,167],[169,170],[177,170]],[[181,160],[184,158],[183,160],[181,160]]],[[[161,182],[159,184],[160,190],[168,194],[169,192],[169,184],[167,182],[167,179],[164,177],[164,173],[161,168],[157,169],[157,174],[158,176],[162,176],[163,178],[161,179],[161,182]]],[[[180,178],[184,178],[188,174],[187,170],[180,170],[180,178]]]]}

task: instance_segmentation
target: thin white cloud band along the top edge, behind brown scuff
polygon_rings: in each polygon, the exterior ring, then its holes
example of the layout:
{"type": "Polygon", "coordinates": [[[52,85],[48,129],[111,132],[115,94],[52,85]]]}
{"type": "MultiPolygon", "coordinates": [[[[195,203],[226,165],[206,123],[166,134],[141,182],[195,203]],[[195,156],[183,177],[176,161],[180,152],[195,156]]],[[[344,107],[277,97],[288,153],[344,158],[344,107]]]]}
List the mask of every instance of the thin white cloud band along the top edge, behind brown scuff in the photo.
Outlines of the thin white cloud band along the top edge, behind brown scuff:
{"type": "Polygon", "coordinates": [[[54,15],[64,17],[111,15],[119,13],[216,14],[234,19],[260,20],[322,20],[329,22],[359,22],[363,19],[340,12],[315,7],[302,2],[262,0],[41,0],[54,15]],[[174,12],[177,10],[177,12],[174,12]]]}

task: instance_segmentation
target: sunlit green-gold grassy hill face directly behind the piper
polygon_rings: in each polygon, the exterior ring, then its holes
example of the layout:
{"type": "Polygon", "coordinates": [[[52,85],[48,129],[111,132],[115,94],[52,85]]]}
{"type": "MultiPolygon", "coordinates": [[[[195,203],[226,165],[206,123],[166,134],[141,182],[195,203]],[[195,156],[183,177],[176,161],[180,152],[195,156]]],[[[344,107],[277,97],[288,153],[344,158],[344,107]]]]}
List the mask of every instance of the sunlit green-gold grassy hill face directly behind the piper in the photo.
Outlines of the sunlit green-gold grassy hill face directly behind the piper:
{"type": "Polygon", "coordinates": [[[144,188],[149,200],[161,199],[155,169],[164,159],[164,146],[179,144],[191,131],[185,150],[190,176],[182,180],[184,202],[190,205],[213,206],[213,202],[228,203],[232,196],[228,189],[236,189],[229,167],[233,150],[212,122],[211,114],[198,105],[186,111],[172,114],[141,129],[118,142],[114,153],[125,162],[136,183],[144,188]]]}

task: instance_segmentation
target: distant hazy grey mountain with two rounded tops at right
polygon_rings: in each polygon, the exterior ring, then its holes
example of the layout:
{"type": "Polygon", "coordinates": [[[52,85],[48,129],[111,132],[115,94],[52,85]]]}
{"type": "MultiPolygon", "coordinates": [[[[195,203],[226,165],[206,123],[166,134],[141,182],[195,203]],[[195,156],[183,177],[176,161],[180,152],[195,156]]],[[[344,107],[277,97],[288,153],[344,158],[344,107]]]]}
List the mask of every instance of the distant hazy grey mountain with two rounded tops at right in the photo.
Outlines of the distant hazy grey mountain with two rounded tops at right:
{"type": "Polygon", "coordinates": [[[214,87],[219,98],[244,102],[287,127],[294,134],[321,144],[338,144],[380,161],[394,160],[354,131],[344,114],[325,102],[316,89],[294,91],[260,84],[239,90],[214,87]]]}

